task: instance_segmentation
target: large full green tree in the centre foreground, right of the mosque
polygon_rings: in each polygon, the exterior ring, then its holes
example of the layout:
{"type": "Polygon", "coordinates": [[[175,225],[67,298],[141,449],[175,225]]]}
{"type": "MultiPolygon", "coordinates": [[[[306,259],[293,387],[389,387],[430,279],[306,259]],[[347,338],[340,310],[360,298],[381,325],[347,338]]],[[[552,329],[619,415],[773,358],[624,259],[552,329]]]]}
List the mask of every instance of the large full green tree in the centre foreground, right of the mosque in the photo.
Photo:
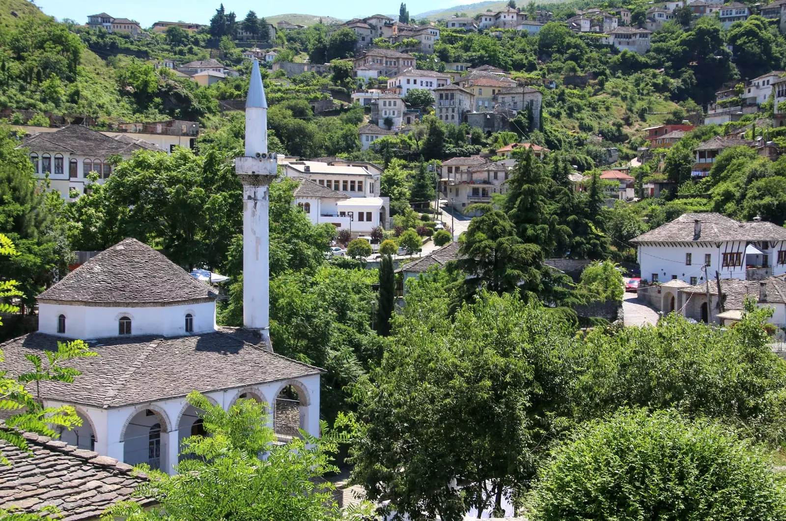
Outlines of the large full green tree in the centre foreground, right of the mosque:
{"type": "Polygon", "coordinates": [[[451,318],[439,283],[415,282],[379,368],[354,392],[362,428],[352,477],[410,519],[498,511],[505,491],[520,497],[562,428],[567,324],[485,291],[451,318]]]}

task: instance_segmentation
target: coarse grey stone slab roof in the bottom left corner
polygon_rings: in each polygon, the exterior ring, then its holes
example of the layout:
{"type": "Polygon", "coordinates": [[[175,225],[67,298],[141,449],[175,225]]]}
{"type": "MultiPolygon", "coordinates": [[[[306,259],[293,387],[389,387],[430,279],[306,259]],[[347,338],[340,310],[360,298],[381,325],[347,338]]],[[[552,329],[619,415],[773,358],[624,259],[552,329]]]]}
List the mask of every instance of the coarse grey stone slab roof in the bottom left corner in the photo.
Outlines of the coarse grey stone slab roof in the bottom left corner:
{"type": "Polygon", "coordinates": [[[0,465],[0,508],[34,514],[53,505],[62,515],[57,519],[76,521],[97,519],[118,501],[154,503],[131,496],[147,477],[131,475],[129,464],[39,434],[24,438],[32,454],[0,441],[0,452],[11,462],[0,465]]]}

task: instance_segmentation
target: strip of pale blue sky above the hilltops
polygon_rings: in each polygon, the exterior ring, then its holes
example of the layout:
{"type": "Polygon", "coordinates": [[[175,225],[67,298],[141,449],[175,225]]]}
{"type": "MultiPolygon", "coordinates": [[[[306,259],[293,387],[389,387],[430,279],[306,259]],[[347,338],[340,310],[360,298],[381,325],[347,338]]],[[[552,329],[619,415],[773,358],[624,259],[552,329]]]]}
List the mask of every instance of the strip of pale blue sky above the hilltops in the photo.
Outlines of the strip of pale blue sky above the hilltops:
{"type": "MultiPolygon", "coordinates": [[[[423,13],[432,9],[447,9],[458,4],[472,3],[473,0],[407,0],[410,14],[423,13]]],[[[137,20],[143,28],[153,22],[184,21],[207,24],[215,14],[221,0],[134,0],[134,2],[107,2],[106,0],[36,0],[44,13],[58,20],[72,18],[85,24],[90,14],[108,13],[116,18],[137,20]]],[[[391,15],[399,13],[401,0],[380,0],[380,2],[361,2],[360,0],[289,0],[288,2],[258,2],[255,0],[226,0],[224,8],[234,11],[239,20],[253,9],[259,17],[272,17],[277,14],[299,13],[317,16],[350,19],[368,17],[376,13],[391,15]]]]}

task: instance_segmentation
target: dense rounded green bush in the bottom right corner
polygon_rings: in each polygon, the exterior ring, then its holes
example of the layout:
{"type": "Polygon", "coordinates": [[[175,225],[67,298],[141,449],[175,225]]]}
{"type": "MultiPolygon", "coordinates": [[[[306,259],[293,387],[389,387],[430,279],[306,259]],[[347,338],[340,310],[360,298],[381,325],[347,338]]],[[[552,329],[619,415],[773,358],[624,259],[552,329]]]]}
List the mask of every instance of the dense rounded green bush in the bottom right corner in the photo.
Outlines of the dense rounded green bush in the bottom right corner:
{"type": "Polygon", "coordinates": [[[554,449],[534,519],[786,519],[784,492],[766,453],[727,427],[625,411],[554,449]]]}

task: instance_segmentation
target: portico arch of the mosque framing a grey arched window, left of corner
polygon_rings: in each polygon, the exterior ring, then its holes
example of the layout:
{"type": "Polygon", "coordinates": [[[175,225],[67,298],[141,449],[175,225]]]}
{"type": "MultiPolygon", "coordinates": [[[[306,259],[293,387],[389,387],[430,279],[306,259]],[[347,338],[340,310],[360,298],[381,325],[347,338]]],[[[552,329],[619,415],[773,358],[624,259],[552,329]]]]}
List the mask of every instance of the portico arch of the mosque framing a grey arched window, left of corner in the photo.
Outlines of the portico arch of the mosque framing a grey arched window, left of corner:
{"type": "Polygon", "coordinates": [[[149,464],[167,470],[167,419],[153,409],[142,409],[128,422],[123,433],[123,461],[149,464]]]}

